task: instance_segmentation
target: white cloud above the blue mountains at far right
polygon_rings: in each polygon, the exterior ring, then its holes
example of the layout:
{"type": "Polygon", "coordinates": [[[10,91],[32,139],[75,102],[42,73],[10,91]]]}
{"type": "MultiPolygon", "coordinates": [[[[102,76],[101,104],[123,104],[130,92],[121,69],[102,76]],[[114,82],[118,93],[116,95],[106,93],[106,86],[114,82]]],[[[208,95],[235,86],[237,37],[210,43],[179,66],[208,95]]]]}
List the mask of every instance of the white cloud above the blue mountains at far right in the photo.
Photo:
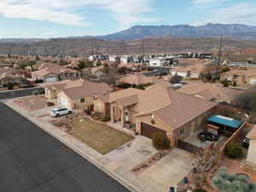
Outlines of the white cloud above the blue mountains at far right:
{"type": "Polygon", "coordinates": [[[206,23],[238,23],[249,26],[256,26],[256,4],[237,3],[224,9],[217,9],[205,20],[192,23],[193,25],[203,25],[206,23]]]}

